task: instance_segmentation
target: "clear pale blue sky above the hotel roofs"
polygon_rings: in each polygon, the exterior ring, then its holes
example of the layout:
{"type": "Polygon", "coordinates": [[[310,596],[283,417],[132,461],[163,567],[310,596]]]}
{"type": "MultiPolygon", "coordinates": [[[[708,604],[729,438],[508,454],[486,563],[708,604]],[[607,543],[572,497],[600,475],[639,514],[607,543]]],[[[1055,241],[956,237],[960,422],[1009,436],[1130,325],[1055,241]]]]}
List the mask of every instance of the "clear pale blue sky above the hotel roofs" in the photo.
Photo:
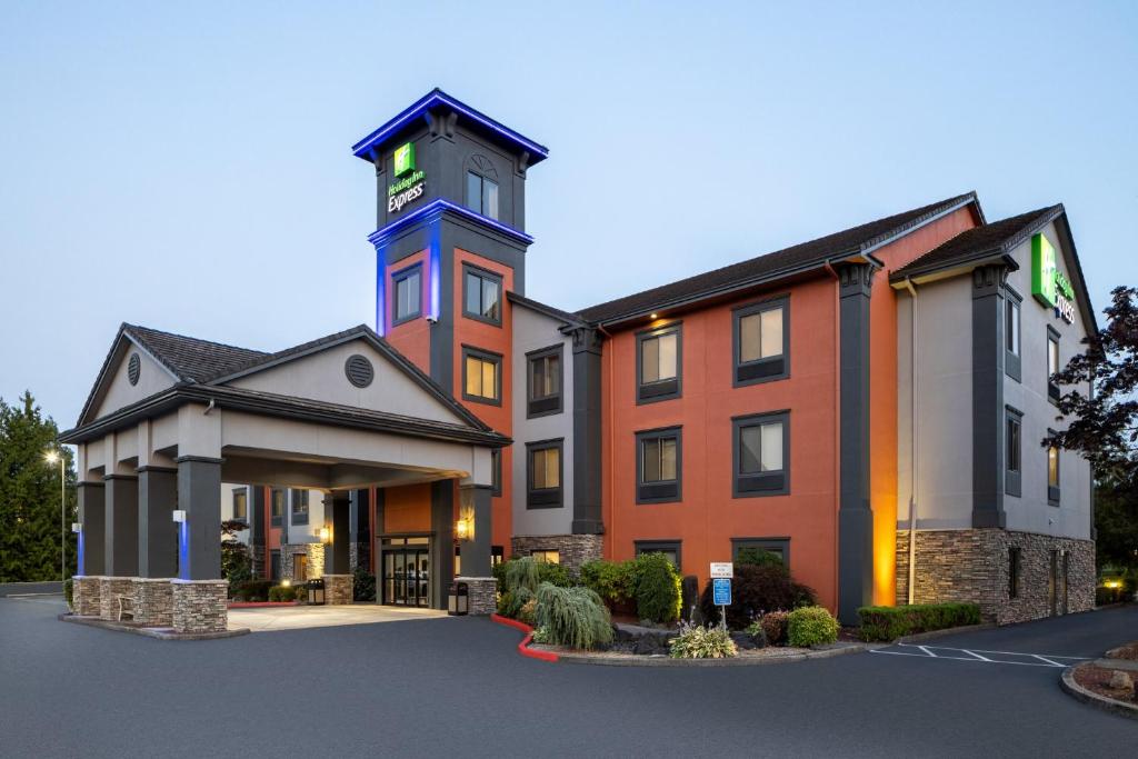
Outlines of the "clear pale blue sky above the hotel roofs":
{"type": "Polygon", "coordinates": [[[351,146],[434,86],[547,146],[577,310],[975,190],[1138,284],[1138,3],[0,5],[0,397],[75,423],[122,322],[263,350],[374,313],[351,146]],[[596,275],[603,272],[603,275],[596,275]]]}

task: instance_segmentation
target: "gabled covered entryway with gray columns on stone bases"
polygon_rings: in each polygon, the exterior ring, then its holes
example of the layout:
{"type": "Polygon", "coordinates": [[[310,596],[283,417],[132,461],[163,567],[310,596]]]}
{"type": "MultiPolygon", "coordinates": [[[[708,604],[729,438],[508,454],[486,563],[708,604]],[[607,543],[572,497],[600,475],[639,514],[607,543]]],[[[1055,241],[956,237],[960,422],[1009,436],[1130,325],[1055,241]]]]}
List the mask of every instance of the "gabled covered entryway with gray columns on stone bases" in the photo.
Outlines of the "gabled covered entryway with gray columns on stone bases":
{"type": "Polygon", "coordinates": [[[222,482],[324,493],[316,574],[332,602],[351,603],[366,492],[390,495],[381,601],[445,609],[456,522],[463,579],[493,599],[490,460],[510,440],[366,327],[263,354],[124,324],[61,440],[79,448],[80,614],[108,618],[127,596],[143,622],[224,629],[222,482]]]}

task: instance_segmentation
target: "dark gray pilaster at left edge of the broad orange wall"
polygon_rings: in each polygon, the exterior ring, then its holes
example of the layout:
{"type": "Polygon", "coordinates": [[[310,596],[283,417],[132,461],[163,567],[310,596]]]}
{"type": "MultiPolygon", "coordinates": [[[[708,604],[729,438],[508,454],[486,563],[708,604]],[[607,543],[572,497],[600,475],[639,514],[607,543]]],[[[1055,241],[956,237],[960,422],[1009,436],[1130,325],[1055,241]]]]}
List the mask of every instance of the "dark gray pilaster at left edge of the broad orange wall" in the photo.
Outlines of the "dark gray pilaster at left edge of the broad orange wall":
{"type": "Polygon", "coordinates": [[[601,333],[572,332],[572,531],[601,535],[601,333]]]}

